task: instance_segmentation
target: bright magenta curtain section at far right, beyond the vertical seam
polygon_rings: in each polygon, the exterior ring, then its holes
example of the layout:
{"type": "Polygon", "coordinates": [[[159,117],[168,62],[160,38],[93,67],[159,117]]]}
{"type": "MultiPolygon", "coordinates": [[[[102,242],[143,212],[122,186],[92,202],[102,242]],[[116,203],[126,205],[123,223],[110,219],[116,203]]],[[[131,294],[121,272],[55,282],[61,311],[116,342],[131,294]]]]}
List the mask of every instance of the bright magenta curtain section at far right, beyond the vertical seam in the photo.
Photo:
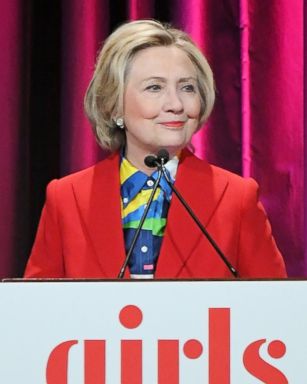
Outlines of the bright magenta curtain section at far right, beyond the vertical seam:
{"type": "Polygon", "coordinates": [[[251,176],[289,274],[305,275],[303,2],[249,1],[249,19],[251,176]]]}

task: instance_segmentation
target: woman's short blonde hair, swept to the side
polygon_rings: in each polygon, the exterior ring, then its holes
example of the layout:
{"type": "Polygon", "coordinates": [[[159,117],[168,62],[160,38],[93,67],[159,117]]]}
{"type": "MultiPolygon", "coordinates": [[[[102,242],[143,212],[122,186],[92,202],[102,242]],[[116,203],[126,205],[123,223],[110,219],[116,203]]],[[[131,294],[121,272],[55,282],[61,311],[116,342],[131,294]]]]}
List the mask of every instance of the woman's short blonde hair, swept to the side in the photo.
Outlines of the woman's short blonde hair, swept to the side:
{"type": "Polygon", "coordinates": [[[155,20],[128,22],[105,41],[84,99],[85,112],[100,146],[116,151],[125,145],[125,131],[114,120],[123,113],[125,81],[129,64],[142,49],[175,46],[194,64],[201,98],[199,126],[210,115],[214,99],[211,68],[192,39],[183,31],[155,20]]]}

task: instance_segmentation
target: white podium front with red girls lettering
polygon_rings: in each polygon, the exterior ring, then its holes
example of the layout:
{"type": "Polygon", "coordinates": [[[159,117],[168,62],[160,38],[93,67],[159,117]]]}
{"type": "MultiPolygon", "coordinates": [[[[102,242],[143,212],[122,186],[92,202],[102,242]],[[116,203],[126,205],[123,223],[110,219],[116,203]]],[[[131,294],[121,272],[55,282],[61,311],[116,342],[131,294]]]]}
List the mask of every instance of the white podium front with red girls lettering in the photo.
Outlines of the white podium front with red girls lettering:
{"type": "Polygon", "coordinates": [[[0,302],[0,383],[307,383],[307,281],[20,280],[0,302]]]}

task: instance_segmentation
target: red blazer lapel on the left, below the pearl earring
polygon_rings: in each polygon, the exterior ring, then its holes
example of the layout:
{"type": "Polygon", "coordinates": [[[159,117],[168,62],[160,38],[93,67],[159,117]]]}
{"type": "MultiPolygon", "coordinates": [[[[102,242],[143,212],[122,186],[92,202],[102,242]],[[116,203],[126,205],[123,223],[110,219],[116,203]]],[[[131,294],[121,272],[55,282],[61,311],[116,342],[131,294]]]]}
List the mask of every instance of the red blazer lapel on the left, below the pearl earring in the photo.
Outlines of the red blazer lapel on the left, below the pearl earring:
{"type": "Polygon", "coordinates": [[[73,186],[80,215],[102,277],[116,278],[125,258],[121,222],[119,154],[93,167],[90,180],[73,186]]]}

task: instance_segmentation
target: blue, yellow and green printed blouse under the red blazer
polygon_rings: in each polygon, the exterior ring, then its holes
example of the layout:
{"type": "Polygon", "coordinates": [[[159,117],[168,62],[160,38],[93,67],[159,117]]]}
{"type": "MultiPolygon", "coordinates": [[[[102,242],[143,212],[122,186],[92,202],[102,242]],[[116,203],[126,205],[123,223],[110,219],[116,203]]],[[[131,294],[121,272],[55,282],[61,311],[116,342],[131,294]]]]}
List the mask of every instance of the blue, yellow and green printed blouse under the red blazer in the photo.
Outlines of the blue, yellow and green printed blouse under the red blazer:
{"type": "MultiPolygon", "coordinates": [[[[173,183],[178,162],[175,156],[165,166],[173,183]]],[[[140,224],[157,176],[158,171],[148,176],[126,158],[121,160],[121,212],[126,252],[140,224]]],[[[162,176],[128,264],[131,278],[154,277],[171,197],[172,190],[162,176]]]]}

